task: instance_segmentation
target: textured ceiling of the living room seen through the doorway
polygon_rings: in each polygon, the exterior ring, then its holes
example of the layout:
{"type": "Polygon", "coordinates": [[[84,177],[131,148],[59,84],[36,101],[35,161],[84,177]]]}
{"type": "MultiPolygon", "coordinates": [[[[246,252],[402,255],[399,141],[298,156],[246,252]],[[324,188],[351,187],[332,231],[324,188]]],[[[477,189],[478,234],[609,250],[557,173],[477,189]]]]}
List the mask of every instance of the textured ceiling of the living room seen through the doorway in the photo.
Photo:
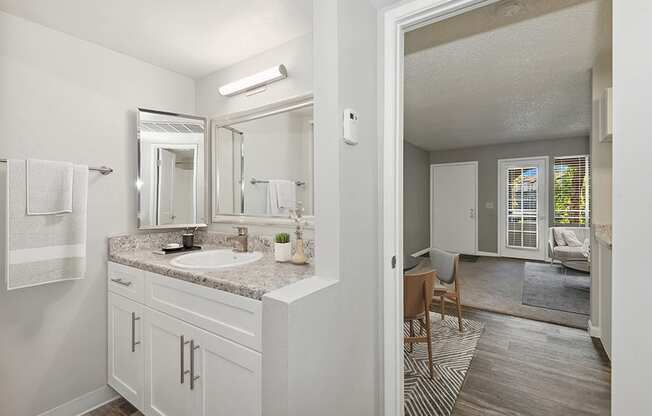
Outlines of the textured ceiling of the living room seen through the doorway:
{"type": "Polygon", "coordinates": [[[518,3],[408,33],[405,140],[438,150],[588,135],[601,2],[518,3]]]}

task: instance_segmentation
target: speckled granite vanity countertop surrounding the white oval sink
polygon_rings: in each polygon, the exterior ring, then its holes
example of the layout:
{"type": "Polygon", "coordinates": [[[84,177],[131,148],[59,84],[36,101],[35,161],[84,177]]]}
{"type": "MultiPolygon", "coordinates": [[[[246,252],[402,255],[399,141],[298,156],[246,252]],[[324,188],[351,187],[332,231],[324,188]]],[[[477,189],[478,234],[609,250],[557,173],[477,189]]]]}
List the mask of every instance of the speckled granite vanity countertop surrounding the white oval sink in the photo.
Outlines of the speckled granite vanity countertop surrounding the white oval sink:
{"type": "MultiPolygon", "coordinates": [[[[206,251],[230,247],[202,244],[202,248],[206,251]]],[[[261,300],[265,293],[314,275],[312,264],[277,263],[274,254],[265,251],[263,258],[253,263],[219,270],[174,267],[170,260],[189,252],[162,255],[153,251],[151,247],[110,250],[109,261],[257,300],[261,300]]]]}

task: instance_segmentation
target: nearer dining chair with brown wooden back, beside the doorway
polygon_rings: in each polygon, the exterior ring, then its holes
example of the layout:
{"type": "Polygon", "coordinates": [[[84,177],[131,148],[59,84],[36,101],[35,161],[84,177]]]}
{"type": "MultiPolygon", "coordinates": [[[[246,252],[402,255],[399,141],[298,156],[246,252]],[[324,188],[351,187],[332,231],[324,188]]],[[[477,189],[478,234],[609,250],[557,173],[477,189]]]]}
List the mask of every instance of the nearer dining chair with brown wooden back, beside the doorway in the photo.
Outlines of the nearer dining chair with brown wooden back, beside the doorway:
{"type": "Polygon", "coordinates": [[[409,352],[413,351],[414,343],[427,344],[431,379],[435,378],[430,324],[430,305],[435,279],[435,272],[432,270],[403,276],[403,322],[408,322],[410,326],[410,334],[404,338],[404,343],[409,347],[409,352]],[[421,327],[418,336],[414,334],[414,321],[418,321],[421,327]]]}

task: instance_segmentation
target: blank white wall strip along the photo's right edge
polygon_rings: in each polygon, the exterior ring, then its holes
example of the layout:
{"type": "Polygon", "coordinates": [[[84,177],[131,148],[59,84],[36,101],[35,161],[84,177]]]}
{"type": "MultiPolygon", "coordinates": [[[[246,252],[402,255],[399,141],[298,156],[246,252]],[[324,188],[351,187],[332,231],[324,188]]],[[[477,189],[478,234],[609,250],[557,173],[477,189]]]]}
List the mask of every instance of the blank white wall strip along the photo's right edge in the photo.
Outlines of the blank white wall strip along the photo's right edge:
{"type": "Polygon", "coordinates": [[[652,409],[650,244],[652,234],[652,3],[613,2],[612,414],[652,409]]]}

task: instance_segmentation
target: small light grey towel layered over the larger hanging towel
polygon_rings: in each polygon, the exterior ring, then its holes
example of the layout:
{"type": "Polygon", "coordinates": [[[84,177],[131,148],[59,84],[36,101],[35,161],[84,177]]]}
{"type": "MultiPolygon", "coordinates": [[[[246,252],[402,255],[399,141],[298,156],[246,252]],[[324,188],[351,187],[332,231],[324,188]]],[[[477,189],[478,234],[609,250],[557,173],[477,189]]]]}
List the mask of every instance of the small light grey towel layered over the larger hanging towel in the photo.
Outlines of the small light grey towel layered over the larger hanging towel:
{"type": "Polygon", "coordinates": [[[27,215],[72,212],[73,164],[27,160],[27,215]]]}

